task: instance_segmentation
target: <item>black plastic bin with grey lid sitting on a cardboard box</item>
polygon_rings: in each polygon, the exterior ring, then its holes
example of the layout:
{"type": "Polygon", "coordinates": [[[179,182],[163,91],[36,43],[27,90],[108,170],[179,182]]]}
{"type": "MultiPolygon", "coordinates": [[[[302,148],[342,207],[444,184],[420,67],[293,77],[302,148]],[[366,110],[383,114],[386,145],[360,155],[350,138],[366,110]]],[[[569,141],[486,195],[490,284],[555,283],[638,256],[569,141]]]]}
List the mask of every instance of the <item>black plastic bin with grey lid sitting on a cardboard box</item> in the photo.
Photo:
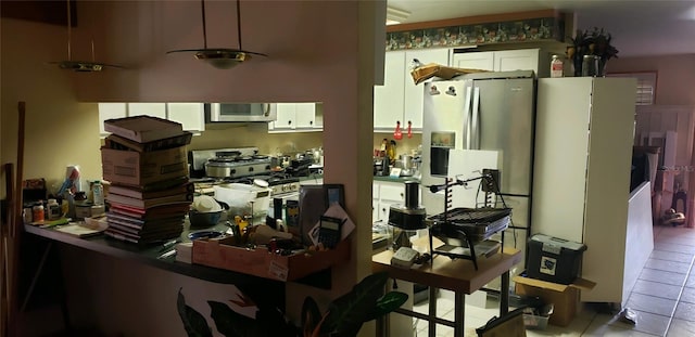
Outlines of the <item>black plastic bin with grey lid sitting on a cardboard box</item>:
{"type": "Polygon", "coordinates": [[[535,234],[529,238],[528,276],[559,284],[570,284],[579,275],[586,245],[535,234]]]}

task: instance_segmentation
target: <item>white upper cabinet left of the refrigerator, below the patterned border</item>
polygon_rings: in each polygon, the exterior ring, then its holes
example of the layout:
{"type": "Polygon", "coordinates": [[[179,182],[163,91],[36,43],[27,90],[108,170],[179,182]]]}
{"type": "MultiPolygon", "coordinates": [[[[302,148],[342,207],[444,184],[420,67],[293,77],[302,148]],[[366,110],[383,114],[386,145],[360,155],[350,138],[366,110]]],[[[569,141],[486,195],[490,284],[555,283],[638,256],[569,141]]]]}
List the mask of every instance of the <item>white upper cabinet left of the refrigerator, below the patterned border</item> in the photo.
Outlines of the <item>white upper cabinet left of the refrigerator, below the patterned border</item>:
{"type": "MultiPolygon", "coordinates": [[[[424,85],[415,85],[410,70],[414,60],[421,64],[448,65],[447,49],[424,49],[386,53],[384,85],[374,88],[374,129],[393,132],[401,122],[404,135],[408,122],[413,131],[422,130],[424,85]]],[[[431,79],[430,79],[431,80],[431,79]]]]}

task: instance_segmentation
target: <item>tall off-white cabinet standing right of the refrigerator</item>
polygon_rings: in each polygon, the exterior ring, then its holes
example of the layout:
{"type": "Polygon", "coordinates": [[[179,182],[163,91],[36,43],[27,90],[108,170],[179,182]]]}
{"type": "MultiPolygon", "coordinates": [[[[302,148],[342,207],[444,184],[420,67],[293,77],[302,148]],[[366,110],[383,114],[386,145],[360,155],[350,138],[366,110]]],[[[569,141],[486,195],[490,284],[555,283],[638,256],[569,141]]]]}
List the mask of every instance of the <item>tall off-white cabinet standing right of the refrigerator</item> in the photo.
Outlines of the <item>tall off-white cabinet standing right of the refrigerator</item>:
{"type": "MultiPolygon", "coordinates": [[[[532,233],[584,243],[582,301],[624,303],[648,258],[628,256],[634,79],[538,81],[532,233]]],[[[650,235],[648,239],[652,239],[650,235]]]]}

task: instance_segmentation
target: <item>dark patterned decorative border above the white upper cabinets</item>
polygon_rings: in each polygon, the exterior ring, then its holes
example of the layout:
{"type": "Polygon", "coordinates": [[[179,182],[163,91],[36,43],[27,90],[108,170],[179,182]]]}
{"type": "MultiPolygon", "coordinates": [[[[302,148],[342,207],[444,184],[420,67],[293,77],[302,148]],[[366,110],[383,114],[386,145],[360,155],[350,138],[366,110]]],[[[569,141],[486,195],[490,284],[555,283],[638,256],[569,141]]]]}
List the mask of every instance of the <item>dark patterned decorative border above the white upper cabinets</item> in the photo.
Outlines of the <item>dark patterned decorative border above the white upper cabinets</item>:
{"type": "Polygon", "coordinates": [[[529,18],[409,31],[387,33],[387,51],[555,39],[563,41],[564,20],[529,18]]]}

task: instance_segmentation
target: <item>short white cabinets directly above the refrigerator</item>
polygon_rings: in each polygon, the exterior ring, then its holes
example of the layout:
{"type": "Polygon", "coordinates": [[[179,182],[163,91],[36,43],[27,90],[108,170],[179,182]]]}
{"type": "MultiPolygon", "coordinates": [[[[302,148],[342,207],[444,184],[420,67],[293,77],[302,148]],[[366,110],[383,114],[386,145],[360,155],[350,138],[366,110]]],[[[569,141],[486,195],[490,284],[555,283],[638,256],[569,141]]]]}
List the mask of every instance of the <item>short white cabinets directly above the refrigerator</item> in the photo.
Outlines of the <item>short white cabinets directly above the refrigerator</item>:
{"type": "Polygon", "coordinates": [[[513,49],[452,54],[452,66],[491,72],[533,70],[536,77],[548,77],[549,59],[541,49],[513,49]]]}

